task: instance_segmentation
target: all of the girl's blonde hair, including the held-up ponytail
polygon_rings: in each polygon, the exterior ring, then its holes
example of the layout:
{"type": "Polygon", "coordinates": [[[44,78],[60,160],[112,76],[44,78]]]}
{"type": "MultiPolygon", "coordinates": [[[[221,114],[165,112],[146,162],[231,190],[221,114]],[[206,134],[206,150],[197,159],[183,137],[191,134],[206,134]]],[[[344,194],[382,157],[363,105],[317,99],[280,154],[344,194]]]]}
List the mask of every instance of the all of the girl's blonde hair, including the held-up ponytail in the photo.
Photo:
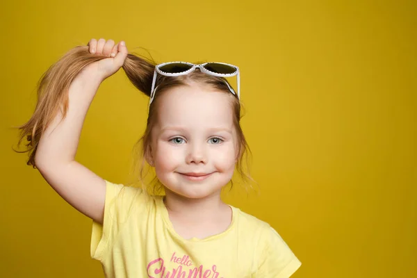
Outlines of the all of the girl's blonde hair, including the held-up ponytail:
{"type": "MultiPolygon", "coordinates": [[[[27,165],[31,165],[34,168],[36,167],[35,154],[40,137],[51,123],[51,120],[57,115],[58,111],[62,112],[63,117],[66,116],[68,109],[68,89],[74,78],[85,66],[104,58],[108,57],[90,54],[88,47],[74,47],[74,49],[68,51],[67,54],[54,63],[54,65],[51,65],[47,72],[42,75],[38,82],[38,102],[35,111],[28,122],[22,126],[17,126],[17,129],[20,131],[17,147],[22,144],[22,141],[25,138],[27,142],[24,151],[15,150],[15,152],[28,152],[27,165]]],[[[153,60],[138,56],[138,54],[128,54],[122,68],[131,83],[149,97],[155,66],[156,63],[153,60]]],[[[214,89],[216,92],[224,92],[234,96],[229,91],[226,79],[204,74],[199,70],[195,70],[187,75],[174,77],[158,74],[158,78],[156,79],[158,93],[155,95],[154,101],[149,106],[145,133],[143,133],[143,136],[135,145],[135,149],[140,147],[140,154],[135,157],[134,163],[134,167],[138,170],[140,181],[143,181],[145,176],[145,167],[147,164],[145,162],[151,142],[151,131],[156,122],[156,115],[158,113],[158,98],[163,95],[163,92],[170,88],[190,85],[190,83],[208,86],[208,88],[214,89]]],[[[247,183],[247,181],[253,181],[249,174],[248,154],[250,154],[250,148],[247,145],[245,136],[240,127],[240,119],[243,115],[241,114],[240,101],[236,96],[231,97],[231,107],[234,112],[233,121],[238,138],[239,155],[236,163],[236,170],[244,183],[247,183]]],[[[153,181],[158,183],[156,177],[154,177],[153,181]]],[[[231,185],[233,186],[233,181],[231,181],[231,185]]],[[[154,192],[158,190],[155,186],[154,188],[147,188],[147,191],[149,191],[149,189],[152,189],[154,192]]]]}

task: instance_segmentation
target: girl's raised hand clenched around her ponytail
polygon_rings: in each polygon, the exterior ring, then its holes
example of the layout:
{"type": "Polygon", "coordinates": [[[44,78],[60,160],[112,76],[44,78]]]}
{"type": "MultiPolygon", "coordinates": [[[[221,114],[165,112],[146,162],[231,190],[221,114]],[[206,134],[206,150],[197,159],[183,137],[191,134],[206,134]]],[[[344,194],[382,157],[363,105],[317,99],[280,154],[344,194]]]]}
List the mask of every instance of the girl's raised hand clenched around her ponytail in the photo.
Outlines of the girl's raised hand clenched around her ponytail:
{"type": "Polygon", "coordinates": [[[88,51],[90,54],[108,57],[98,60],[83,69],[83,74],[92,74],[101,81],[115,74],[122,67],[124,59],[127,56],[127,48],[123,40],[115,44],[114,40],[104,40],[101,38],[97,41],[93,38],[88,42],[88,51]]]}

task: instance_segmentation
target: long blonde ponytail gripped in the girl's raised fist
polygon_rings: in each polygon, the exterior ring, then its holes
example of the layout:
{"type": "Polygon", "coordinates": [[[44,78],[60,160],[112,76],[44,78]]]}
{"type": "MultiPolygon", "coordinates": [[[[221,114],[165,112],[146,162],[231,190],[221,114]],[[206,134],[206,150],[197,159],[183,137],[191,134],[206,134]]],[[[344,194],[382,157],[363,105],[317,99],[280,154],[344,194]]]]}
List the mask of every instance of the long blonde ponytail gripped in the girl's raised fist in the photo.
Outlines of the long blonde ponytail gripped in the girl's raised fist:
{"type": "MultiPolygon", "coordinates": [[[[15,152],[28,152],[27,165],[32,165],[35,168],[35,154],[40,138],[57,113],[61,111],[63,118],[67,115],[68,90],[72,81],[85,66],[105,58],[108,57],[90,54],[88,47],[75,47],[54,65],[51,65],[47,72],[42,75],[37,85],[38,102],[35,112],[28,122],[22,126],[17,126],[20,131],[17,147],[22,144],[24,138],[27,142],[24,151],[15,150],[15,152]]],[[[131,83],[149,96],[155,65],[156,63],[152,60],[128,54],[122,68],[131,83]]]]}

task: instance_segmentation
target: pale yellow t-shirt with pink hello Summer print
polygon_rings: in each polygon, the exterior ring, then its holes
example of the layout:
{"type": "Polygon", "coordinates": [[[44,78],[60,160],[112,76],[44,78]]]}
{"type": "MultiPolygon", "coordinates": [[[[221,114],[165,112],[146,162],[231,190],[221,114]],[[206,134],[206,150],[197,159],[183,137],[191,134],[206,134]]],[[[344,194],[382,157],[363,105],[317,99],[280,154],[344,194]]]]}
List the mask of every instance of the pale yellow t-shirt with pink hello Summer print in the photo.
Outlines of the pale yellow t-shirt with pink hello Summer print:
{"type": "Polygon", "coordinates": [[[162,197],[106,181],[103,225],[92,224],[91,257],[106,277],[288,278],[301,263],[269,224],[231,206],[229,228],[181,238],[162,197]],[[123,189],[122,189],[123,188],[123,189]]]}

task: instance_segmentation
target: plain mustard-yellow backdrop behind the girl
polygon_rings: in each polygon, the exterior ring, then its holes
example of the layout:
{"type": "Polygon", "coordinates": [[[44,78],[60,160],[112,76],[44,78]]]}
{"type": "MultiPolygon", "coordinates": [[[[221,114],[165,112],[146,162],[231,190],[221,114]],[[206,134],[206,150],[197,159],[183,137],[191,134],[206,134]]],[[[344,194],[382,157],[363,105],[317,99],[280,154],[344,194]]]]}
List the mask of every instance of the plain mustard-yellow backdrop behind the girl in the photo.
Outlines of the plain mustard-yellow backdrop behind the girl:
{"type": "MultiPolygon", "coordinates": [[[[92,221],[12,151],[10,129],[33,113],[41,74],[90,38],[145,47],[159,63],[240,67],[261,194],[236,187],[226,199],[279,231],[303,263],[293,277],[417,277],[415,1],[1,6],[1,277],[103,277],[90,259],[92,221]]],[[[126,181],[146,109],[124,72],[106,80],[77,160],[126,181]]]]}

